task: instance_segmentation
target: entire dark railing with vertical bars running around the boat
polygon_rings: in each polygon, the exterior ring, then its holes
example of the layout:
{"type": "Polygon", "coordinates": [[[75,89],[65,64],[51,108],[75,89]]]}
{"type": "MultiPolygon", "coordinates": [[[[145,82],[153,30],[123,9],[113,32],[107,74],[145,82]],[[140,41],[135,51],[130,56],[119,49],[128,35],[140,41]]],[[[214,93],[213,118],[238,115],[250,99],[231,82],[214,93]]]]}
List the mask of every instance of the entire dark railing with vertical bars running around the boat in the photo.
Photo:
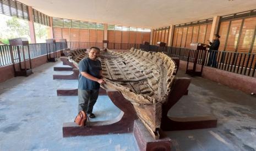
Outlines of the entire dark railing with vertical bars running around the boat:
{"type": "MultiPolygon", "coordinates": [[[[89,43],[89,42],[67,42],[64,48],[88,49],[90,47],[107,47],[108,49],[130,49],[132,47],[145,51],[161,51],[170,57],[178,57],[180,60],[193,62],[197,58],[198,65],[205,65],[228,72],[256,77],[256,54],[237,53],[230,51],[193,50],[177,47],[158,47],[156,45],[128,44],[128,43],[89,43]],[[205,53],[206,51],[206,53],[205,53]]],[[[0,46],[0,67],[12,64],[10,57],[10,46],[0,46]]],[[[61,43],[56,43],[56,50],[61,49],[61,43]]],[[[46,43],[29,44],[31,58],[46,55],[46,43]]],[[[17,49],[13,48],[14,59],[18,57],[17,49]]],[[[21,55],[22,56],[22,55],[21,55]]],[[[25,55],[26,56],[26,55],[25,55]]],[[[18,60],[14,60],[14,63],[18,60]]]]}

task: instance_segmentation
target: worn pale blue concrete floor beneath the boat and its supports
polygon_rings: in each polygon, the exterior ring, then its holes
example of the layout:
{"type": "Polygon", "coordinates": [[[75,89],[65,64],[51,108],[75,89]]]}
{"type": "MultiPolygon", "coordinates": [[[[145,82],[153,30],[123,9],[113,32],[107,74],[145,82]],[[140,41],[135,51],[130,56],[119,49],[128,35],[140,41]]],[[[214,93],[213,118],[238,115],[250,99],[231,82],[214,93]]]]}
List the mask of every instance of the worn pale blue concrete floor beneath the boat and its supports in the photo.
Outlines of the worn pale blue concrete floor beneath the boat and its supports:
{"type": "MultiPolygon", "coordinates": [[[[132,133],[62,137],[63,122],[77,114],[77,96],[57,96],[57,89],[77,88],[77,80],[52,80],[54,66],[46,63],[29,77],[0,84],[0,150],[138,150],[132,133]]],[[[179,71],[179,77],[185,77],[179,71]]],[[[95,104],[94,120],[119,114],[107,96],[95,104]]],[[[192,78],[188,96],[171,108],[176,117],[214,115],[215,129],[166,132],[172,150],[256,150],[256,97],[203,78],[192,78]]]]}

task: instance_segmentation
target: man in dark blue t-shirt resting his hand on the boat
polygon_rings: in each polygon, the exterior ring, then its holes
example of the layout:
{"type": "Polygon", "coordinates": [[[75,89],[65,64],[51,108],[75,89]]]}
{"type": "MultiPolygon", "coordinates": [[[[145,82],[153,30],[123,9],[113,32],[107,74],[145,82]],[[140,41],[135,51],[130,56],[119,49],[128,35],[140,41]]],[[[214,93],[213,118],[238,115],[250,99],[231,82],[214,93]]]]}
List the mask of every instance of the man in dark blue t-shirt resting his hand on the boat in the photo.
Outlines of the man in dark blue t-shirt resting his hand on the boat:
{"type": "Polygon", "coordinates": [[[78,64],[78,112],[83,110],[90,118],[95,118],[92,109],[99,96],[100,84],[105,83],[102,79],[100,60],[97,60],[99,54],[99,48],[91,47],[89,57],[78,64]]]}

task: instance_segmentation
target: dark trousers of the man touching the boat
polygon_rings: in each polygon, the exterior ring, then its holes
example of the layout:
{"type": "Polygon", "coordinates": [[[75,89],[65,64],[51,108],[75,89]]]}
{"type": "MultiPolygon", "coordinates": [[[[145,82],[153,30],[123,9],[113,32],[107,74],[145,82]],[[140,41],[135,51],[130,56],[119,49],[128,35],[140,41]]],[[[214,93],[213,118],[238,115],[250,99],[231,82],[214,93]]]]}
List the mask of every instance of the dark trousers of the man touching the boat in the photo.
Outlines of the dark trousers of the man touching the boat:
{"type": "Polygon", "coordinates": [[[78,89],[78,112],[84,111],[87,114],[92,113],[94,104],[99,96],[99,89],[81,90],[78,89]]]}

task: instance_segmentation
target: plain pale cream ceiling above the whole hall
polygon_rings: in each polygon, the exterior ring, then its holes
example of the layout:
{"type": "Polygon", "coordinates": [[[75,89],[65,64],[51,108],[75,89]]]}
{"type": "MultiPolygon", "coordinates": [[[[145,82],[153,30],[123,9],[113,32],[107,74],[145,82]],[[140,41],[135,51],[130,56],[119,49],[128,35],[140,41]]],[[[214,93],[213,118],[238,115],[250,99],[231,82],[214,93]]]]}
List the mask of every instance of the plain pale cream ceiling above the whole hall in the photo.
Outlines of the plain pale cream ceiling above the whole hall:
{"type": "Polygon", "coordinates": [[[256,9],[256,0],[18,0],[57,18],[144,28],[256,9]]]}

